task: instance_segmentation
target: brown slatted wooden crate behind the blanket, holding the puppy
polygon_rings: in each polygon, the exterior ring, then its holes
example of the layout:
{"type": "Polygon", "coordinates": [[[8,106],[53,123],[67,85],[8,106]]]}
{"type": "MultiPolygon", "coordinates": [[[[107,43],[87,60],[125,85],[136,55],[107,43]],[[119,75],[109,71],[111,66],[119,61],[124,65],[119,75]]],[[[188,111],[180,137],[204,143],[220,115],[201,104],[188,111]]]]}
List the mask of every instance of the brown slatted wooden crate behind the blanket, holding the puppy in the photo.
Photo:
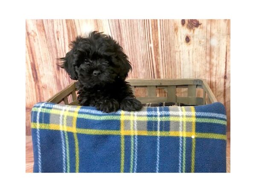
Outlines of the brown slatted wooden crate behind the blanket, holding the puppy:
{"type": "MultiPolygon", "coordinates": [[[[127,81],[131,84],[134,93],[138,88],[147,90],[146,96],[137,97],[142,103],[178,102],[185,105],[205,105],[217,102],[209,85],[202,79],[128,79],[127,81]],[[186,96],[177,96],[178,88],[185,88],[186,96]],[[163,89],[166,96],[157,97],[157,89],[163,89]],[[202,90],[202,96],[197,95],[198,89],[202,90]]],[[[52,96],[47,102],[78,105],[76,82],[71,83],[64,90],[52,96]]]]}

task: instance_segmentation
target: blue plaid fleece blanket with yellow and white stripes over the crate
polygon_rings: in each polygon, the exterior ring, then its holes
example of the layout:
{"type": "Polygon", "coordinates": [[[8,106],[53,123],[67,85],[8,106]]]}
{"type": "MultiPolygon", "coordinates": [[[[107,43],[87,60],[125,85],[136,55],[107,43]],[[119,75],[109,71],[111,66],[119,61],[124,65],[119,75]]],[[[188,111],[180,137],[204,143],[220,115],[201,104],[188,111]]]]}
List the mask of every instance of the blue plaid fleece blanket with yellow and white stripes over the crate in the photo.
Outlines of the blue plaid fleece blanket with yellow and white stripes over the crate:
{"type": "Polygon", "coordinates": [[[224,105],[32,108],[34,172],[226,172],[224,105]]]}

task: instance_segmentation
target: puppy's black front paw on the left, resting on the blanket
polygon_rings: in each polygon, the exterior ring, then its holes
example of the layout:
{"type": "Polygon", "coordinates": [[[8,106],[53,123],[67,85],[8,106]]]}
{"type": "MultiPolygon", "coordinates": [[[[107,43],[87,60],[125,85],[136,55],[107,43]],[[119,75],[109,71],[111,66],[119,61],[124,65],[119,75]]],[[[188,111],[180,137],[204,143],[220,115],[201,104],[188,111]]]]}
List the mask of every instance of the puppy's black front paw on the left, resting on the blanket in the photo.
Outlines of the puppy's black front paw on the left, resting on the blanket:
{"type": "Polygon", "coordinates": [[[119,110],[119,103],[115,99],[106,99],[98,102],[95,107],[100,111],[110,113],[119,110]]]}

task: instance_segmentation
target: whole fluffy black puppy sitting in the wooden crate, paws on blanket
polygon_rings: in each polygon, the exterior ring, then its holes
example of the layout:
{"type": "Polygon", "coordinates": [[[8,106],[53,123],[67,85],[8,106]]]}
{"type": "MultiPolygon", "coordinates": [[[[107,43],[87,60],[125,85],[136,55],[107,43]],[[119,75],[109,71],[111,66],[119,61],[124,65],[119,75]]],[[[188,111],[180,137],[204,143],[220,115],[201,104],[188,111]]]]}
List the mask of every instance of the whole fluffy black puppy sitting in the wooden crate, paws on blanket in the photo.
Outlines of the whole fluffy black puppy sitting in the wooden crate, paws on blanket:
{"type": "Polygon", "coordinates": [[[77,37],[72,49],[61,58],[71,79],[78,80],[79,105],[95,106],[104,112],[138,111],[142,108],[125,81],[131,64],[122,47],[109,35],[91,32],[77,37]]]}

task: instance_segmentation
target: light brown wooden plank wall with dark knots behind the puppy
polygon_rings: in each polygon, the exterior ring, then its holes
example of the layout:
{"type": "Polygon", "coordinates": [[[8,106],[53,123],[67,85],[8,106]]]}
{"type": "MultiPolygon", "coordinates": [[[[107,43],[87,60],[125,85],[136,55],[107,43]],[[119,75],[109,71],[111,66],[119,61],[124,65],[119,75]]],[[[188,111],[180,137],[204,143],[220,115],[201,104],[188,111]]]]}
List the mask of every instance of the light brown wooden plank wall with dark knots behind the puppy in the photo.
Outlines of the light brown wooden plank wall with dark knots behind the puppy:
{"type": "Polygon", "coordinates": [[[56,58],[93,30],[121,44],[133,66],[129,78],[206,79],[226,106],[230,130],[230,20],[26,20],[26,135],[32,106],[71,82],[56,58]]]}

